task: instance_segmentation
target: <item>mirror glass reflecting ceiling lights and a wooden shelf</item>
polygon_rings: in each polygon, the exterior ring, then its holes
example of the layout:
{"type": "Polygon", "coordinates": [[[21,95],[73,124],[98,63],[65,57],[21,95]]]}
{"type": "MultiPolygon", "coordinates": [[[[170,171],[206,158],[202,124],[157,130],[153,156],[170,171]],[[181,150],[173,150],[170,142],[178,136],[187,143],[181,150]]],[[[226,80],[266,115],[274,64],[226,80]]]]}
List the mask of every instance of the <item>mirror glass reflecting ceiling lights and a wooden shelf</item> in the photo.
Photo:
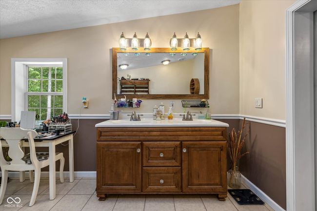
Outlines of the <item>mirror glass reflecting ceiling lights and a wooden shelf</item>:
{"type": "Polygon", "coordinates": [[[204,94],[204,53],[118,53],[117,94],[204,94]]]}

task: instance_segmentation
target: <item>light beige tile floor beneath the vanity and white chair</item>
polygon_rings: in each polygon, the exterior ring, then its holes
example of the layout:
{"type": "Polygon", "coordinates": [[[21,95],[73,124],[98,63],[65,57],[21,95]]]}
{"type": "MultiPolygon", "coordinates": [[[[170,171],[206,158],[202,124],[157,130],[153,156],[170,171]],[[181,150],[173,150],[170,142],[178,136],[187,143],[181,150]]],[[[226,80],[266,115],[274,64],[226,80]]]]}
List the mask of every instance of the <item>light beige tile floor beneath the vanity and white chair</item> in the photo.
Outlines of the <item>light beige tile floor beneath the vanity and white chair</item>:
{"type": "MultiPolygon", "coordinates": [[[[228,194],[226,201],[216,195],[110,195],[96,197],[95,178],[75,178],[73,183],[56,181],[56,198],[49,200],[48,178],[40,181],[35,205],[29,207],[33,184],[28,179],[11,179],[0,211],[274,211],[268,205],[238,205],[228,194]],[[8,207],[8,197],[20,197],[23,207],[8,207]]],[[[14,202],[12,203],[14,204],[14,202]]]]}

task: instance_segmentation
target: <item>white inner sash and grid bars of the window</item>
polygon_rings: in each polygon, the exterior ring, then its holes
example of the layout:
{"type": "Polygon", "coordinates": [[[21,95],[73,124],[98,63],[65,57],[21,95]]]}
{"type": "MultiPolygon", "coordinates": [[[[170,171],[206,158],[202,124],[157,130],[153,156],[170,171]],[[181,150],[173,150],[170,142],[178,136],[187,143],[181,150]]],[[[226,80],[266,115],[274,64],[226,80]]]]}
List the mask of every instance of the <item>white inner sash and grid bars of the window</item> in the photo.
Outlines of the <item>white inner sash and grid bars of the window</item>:
{"type": "MultiPolygon", "coordinates": [[[[28,76],[28,68],[29,67],[63,67],[61,64],[24,64],[24,110],[28,111],[28,96],[63,96],[63,92],[28,92],[28,81],[29,81],[29,76],[28,76]]],[[[64,72],[64,71],[63,71],[64,72]]],[[[42,78],[40,80],[43,80],[42,78]]],[[[53,79],[54,81],[57,80],[61,80],[62,79],[56,79],[56,72],[55,72],[55,79],[53,79]]],[[[55,82],[55,89],[56,89],[56,82],[55,82]]],[[[63,90],[64,90],[64,82],[63,82],[63,90]]],[[[47,107],[48,108],[48,107],[47,107]]],[[[41,112],[41,107],[39,108],[40,112],[41,112]]],[[[45,109],[45,108],[43,108],[45,109]]],[[[55,109],[55,103],[53,101],[53,107],[51,108],[52,111],[52,115],[53,115],[53,111],[55,109]]],[[[61,108],[63,111],[65,111],[64,109],[64,99],[63,99],[63,107],[61,108]]],[[[40,115],[41,116],[41,115],[40,115]]],[[[43,119],[40,119],[43,120],[43,119]]]]}

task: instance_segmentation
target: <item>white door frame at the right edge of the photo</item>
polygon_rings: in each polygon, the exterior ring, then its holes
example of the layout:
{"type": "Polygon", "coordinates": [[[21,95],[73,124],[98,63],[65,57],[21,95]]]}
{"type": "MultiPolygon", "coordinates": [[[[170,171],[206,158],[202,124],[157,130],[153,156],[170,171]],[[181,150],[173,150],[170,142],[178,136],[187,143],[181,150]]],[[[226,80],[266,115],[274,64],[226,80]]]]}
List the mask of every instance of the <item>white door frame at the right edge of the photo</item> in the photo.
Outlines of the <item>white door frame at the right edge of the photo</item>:
{"type": "Polygon", "coordinates": [[[315,6],[317,7],[317,4],[313,0],[297,0],[286,10],[287,211],[315,210],[314,79],[310,79],[306,84],[302,82],[303,78],[314,76],[314,63],[304,66],[304,68],[297,66],[305,59],[309,59],[307,57],[312,56],[313,53],[307,53],[306,58],[305,55],[296,54],[300,51],[299,47],[304,46],[303,37],[299,36],[307,35],[309,37],[308,34],[311,32],[300,29],[303,26],[298,24],[298,19],[304,21],[303,25],[306,25],[307,28],[311,24],[309,22],[311,20],[307,17],[303,19],[302,14],[314,12],[315,6]],[[299,70],[300,74],[298,74],[299,70]],[[309,90],[309,92],[305,93],[305,90],[309,90]],[[304,106],[298,109],[299,104],[304,106]],[[303,177],[306,179],[303,180],[303,177]],[[309,209],[306,209],[307,207],[309,209]]]}

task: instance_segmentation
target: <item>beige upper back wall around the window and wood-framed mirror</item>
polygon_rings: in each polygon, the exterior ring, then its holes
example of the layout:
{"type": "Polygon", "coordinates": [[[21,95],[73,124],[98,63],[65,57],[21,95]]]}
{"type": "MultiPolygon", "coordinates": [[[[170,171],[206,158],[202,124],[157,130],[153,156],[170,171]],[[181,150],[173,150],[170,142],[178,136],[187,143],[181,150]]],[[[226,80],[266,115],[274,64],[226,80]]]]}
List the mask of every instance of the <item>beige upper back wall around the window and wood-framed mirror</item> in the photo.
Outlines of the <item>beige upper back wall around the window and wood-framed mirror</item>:
{"type": "MultiPolygon", "coordinates": [[[[11,58],[68,58],[68,113],[79,114],[81,97],[90,99],[82,114],[107,114],[112,100],[112,47],[119,36],[146,32],[152,47],[169,47],[173,32],[195,37],[211,48],[210,104],[214,114],[239,113],[239,5],[139,19],[45,34],[0,39],[0,115],[11,114],[11,58]]],[[[151,112],[160,101],[144,100],[137,112],[151,112]]],[[[181,112],[180,100],[176,112],[181,112]]]]}

